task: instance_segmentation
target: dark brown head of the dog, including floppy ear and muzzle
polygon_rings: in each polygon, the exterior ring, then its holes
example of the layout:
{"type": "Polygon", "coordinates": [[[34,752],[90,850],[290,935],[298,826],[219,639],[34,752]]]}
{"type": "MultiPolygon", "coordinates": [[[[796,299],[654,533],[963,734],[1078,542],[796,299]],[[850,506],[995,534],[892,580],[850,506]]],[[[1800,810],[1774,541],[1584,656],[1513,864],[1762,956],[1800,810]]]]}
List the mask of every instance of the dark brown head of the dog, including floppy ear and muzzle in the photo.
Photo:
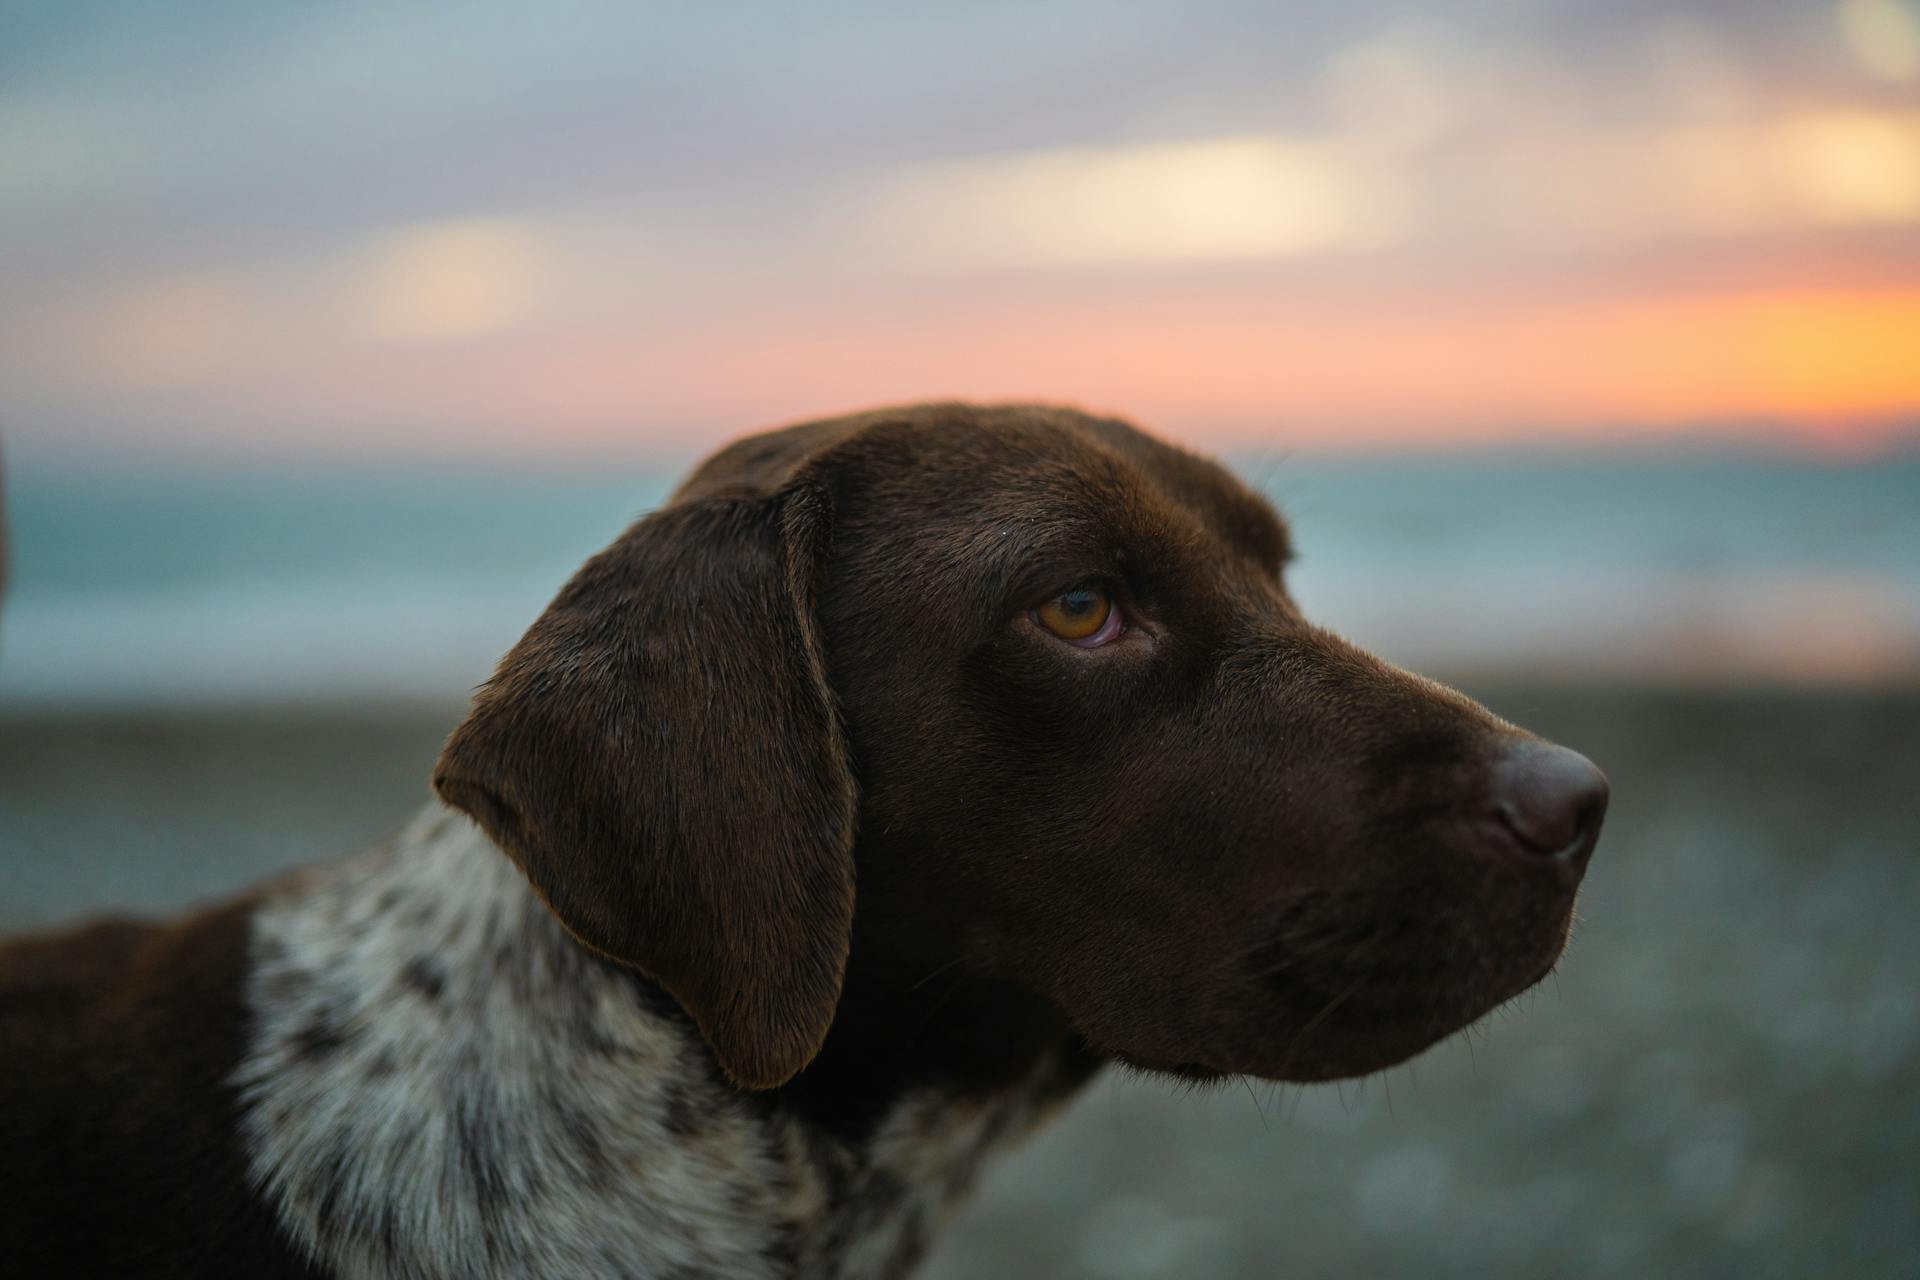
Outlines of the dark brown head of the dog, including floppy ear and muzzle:
{"type": "Polygon", "coordinates": [[[1137,1065],[1363,1075],[1546,975],[1607,789],[1309,624],[1286,560],[1123,422],[755,436],[580,570],[434,783],[749,1088],[818,1052],[856,912],[1137,1065]]]}

